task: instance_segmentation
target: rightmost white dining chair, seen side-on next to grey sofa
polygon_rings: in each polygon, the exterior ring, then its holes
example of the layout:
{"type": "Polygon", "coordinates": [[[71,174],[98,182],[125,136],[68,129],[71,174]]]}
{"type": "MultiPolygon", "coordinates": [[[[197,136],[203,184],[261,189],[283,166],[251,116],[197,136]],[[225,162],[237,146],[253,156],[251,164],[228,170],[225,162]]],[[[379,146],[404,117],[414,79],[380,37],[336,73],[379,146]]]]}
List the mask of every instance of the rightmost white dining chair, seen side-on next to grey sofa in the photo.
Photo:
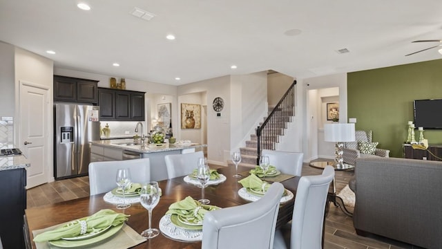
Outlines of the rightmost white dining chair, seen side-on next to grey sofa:
{"type": "Polygon", "coordinates": [[[287,226],[276,230],[273,248],[320,249],[323,246],[325,204],[329,185],[334,178],[334,168],[326,166],[323,174],[302,176],[296,190],[293,219],[287,226]],[[285,241],[282,234],[291,234],[285,241]]]}

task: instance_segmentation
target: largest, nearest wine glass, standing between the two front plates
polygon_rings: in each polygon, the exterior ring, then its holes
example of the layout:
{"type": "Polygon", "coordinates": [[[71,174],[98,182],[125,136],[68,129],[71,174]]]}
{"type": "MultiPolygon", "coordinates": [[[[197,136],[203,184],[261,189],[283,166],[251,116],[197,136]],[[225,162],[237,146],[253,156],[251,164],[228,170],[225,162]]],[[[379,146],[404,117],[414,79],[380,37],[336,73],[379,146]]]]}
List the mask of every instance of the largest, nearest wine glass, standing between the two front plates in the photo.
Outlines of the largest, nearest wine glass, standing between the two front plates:
{"type": "Polygon", "coordinates": [[[141,233],[141,236],[146,239],[157,237],[160,230],[152,228],[152,210],[160,202],[160,187],[158,183],[152,181],[150,183],[143,183],[140,191],[140,203],[148,211],[149,228],[141,233]]]}

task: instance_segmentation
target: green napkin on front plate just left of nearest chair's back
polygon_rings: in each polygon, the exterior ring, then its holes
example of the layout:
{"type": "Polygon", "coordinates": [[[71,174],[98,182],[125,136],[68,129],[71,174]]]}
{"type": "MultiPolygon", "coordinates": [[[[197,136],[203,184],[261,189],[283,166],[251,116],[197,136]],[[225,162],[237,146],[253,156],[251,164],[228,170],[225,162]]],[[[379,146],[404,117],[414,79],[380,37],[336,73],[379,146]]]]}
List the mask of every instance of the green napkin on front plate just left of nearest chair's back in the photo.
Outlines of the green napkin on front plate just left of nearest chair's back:
{"type": "Polygon", "coordinates": [[[184,218],[195,218],[198,221],[204,219],[207,212],[218,210],[214,205],[204,205],[195,201],[191,196],[187,196],[184,200],[172,203],[166,214],[177,214],[184,218]]]}

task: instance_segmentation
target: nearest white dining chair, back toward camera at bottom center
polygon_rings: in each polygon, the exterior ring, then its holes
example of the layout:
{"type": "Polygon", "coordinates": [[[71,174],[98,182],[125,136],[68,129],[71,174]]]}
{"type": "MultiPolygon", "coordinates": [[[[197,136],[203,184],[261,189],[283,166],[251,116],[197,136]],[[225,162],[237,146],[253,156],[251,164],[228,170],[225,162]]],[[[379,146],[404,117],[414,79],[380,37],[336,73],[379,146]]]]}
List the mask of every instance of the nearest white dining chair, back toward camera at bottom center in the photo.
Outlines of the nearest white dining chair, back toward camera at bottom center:
{"type": "Polygon", "coordinates": [[[258,201],[206,213],[202,249],[272,248],[282,192],[281,183],[272,183],[258,201]]]}

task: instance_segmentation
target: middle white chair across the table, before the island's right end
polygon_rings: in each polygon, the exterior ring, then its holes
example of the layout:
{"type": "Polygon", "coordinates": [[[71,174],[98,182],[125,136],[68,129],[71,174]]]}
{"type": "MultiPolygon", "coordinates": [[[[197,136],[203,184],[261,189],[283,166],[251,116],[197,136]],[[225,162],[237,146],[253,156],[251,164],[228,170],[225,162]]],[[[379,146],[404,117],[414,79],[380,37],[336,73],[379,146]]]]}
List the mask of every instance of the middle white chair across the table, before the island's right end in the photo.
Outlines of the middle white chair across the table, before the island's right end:
{"type": "Polygon", "coordinates": [[[202,151],[164,156],[167,177],[171,179],[191,174],[193,169],[196,169],[198,166],[198,158],[204,158],[202,151]]]}

